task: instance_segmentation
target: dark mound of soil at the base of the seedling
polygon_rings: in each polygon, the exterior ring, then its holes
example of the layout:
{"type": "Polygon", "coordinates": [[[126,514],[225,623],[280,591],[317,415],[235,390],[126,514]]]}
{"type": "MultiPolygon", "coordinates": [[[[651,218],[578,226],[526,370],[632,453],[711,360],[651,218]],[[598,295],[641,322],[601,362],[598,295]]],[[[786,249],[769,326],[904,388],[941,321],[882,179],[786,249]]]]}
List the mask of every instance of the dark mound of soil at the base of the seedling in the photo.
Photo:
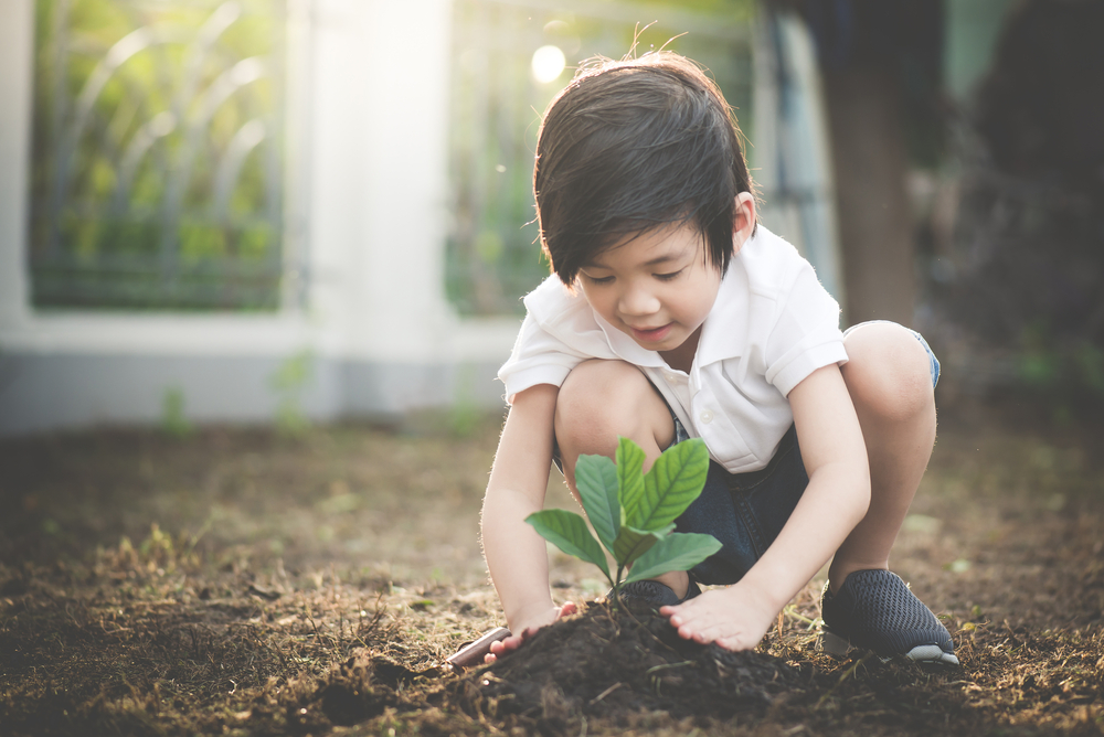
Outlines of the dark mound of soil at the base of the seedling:
{"type": "Polygon", "coordinates": [[[761,652],[729,652],[681,639],[647,607],[613,612],[591,605],[582,615],[540,630],[526,647],[466,674],[448,691],[468,713],[548,719],[667,712],[675,718],[761,714],[804,696],[813,669],[761,652]]]}

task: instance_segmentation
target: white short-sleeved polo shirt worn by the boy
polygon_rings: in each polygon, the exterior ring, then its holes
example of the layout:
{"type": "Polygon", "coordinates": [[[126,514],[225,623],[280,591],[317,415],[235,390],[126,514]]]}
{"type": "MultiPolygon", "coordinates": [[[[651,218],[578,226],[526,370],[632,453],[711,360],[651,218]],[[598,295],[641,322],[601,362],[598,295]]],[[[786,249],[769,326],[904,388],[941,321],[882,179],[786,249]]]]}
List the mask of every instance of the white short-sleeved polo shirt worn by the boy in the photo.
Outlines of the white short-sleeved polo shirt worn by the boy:
{"type": "Polygon", "coordinates": [[[627,361],[730,473],[765,467],[794,421],[790,389],[847,362],[839,305],[797,249],[762,225],[721,280],[689,374],[640,348],[554,275],[524,303],[513,353],[498,372],[509,402],[537,384],[560,386],[587,359],[627,361]]]}

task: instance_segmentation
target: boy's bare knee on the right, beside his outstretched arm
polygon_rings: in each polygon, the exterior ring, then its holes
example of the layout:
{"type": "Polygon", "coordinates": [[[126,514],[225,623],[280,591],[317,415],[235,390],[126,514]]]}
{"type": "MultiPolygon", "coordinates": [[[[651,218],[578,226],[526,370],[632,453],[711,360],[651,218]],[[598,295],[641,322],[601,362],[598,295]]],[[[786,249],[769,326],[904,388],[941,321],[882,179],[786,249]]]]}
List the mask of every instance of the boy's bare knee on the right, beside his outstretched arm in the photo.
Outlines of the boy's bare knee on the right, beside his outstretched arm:
{"type": "Polygon", "coordinates": [[[912,331],[872,323],[848,334],[845,345],[843,380],[860,414],[899,423],[934,410],[931,361],[912,331]]]}

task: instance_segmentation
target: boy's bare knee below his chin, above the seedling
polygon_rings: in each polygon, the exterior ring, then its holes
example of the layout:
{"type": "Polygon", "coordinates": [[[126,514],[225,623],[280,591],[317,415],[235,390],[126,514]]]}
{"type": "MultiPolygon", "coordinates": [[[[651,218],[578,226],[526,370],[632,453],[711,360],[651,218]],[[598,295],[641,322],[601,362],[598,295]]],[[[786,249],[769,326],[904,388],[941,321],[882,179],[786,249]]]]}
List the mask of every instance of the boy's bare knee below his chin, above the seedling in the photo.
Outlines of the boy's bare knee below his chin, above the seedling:
{"type": "Polygon", "coordinates": [[[643,442],[665,419],[670,423],[667,405],[647,376],[623,361],[584,361],[556,397],[556,440],[577,452],[612,455],[617,436],[643,442]]]}

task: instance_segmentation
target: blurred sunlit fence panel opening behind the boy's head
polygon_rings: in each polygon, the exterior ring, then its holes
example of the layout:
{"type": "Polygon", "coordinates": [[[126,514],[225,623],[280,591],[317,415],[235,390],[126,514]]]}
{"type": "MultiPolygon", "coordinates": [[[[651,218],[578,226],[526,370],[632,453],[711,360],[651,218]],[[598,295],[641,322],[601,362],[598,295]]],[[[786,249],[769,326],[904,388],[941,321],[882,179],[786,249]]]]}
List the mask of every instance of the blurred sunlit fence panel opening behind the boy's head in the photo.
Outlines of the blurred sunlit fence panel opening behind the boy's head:
{"type": "Polygon", "coordinates": [[[533,222],[533,152],[541,114],[578,61],[620,58],[634,39],[637,54],[666,45],[707,66],[741,122],[751,122],[751,3],[680,4],[714,12],[608,1],[456,0],[446,291],[461,313],[519,313],[519,298],[549,274],[533,222]],[[539,82],[533,58],[544,46],[561,50],[567,66],[539,82]]]}

